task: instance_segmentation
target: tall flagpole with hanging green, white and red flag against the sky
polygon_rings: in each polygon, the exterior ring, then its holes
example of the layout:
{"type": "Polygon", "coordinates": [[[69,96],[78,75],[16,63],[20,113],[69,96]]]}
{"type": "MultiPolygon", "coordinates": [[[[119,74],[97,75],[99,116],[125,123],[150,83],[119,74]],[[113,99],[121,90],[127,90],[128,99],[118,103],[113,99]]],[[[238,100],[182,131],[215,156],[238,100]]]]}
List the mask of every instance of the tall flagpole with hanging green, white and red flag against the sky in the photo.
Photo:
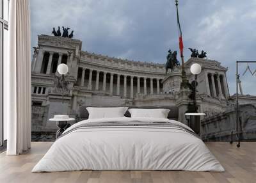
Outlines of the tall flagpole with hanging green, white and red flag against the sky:
{"type": "Polygon", "coordinates": [[[183,56],[183,43],[182,43],[182,32],[180,28],[180,19],[179,19],[179,9],[178,9],[178,0],[175,0],[175,5],[176,5],[176,12],[177,12],[177,23],[179,26],[179,44],[180,44],[180,58],[181,58],[181,77],[182,77],[182,82],[180,83],[180,88],[187,88],[188,87],[188,79],[186,77],[186,71],[185,71],[185,65],[184,65],[184,56],[183,56]]]}

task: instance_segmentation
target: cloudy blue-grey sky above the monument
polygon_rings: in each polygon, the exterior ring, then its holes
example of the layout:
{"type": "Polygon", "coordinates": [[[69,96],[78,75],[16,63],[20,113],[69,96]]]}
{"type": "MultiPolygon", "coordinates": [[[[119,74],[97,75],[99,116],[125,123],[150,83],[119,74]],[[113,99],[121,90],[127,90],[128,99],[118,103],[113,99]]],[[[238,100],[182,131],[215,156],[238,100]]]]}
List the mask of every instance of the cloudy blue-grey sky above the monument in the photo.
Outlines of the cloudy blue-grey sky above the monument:
{"type": "MultiPolygon", "coordinates": [[[[164,63],[178,50],[174,0],[31,0],[31,45],[52,27],[74,30],[83,51],[116,58],[164,63]]],[[[179,4],[184,56],[188,47],[228,67],[230,94],[236,90],[236,60],[256,60],[255,0],[183,0],[179,4]]],[[[250,65],[252,72],[255,65],[250,65]]],[[[246,65],[241,67],[241,72],[246,65]]],[[[256,95],[256,74],[241,77],[244,93],[256,95]]]]}

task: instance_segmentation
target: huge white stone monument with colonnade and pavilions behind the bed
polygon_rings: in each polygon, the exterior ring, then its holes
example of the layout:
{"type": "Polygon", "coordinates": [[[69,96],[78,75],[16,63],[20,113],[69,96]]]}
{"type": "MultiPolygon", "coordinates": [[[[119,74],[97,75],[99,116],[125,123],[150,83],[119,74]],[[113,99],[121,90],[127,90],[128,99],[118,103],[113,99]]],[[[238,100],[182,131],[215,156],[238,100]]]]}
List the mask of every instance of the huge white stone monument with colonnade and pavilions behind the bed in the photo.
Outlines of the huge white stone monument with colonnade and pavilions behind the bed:
{"type": "MultiPolygon", "coordinates": [[[[58,31],[53,33],[60,34],[58,31]]],[[[38,36],[38,47],[34,48],[31,63],[34,139],[47,140],[44,135],[57,129],[55,123],[47,122],[49,118],[63,113],[77,118],[79,106],[177,106],[179,121],[187,123],[184,113],[191,102],[188,97],[191,91],[180,89],[182,78],[178,63],[172,72],[166,72],[164,64],[122,60],[82,51],[82,42],[73,36],[73,32],[71,36],[67,32],[65,36],[38,36]],[[60,63],[66,63],[69,71],[65,77],[64,104],[61,77],[56,72],[60,63]]],[[[206,113],[201,121],[201,136],[203,139],[227,139],[232,125],[225,127],[225,123],[230,122],[227,116],[232,115],[234,107],[234,96],[230,97],[228,92],[227,68],[219,61],[206,60],[205,55],[202,57],[191,56],[185,62],[189,83],[194,79],[189,67],[193,63],[202,67],[197,80],[198,112],[206,113]]],[[[243,104],[256,104],[253,96],[240,97],[243,104]]]]}

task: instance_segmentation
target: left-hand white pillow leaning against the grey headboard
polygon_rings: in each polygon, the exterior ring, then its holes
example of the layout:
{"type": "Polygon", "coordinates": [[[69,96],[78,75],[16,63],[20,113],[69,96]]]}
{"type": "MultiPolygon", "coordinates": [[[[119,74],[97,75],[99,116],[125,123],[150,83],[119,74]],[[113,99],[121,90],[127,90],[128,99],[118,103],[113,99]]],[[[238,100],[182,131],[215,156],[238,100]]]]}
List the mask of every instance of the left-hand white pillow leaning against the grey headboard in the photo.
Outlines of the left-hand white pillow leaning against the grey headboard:
{"type": "Polygon", "coordinates": [[[120,118],[124,117],[128,107],[86,107],[89,117],[95,118],[120,118]]]}

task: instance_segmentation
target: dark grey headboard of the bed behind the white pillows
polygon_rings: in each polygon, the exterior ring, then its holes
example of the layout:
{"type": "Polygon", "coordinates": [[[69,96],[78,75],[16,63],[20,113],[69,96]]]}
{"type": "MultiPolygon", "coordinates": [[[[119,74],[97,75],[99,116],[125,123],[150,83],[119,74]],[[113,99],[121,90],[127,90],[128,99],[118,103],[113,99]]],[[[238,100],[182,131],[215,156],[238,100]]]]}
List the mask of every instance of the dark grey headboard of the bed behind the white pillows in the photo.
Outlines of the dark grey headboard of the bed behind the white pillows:
{"type": "MultiPolygon", "coordinates": [[[[78,121],[87,120],[89,113],[86,109],[88,106],[81,106],[79,107],[79,113],[78,113],[78,121]]],[[[95,107],[95,106],[93,106],[95,107]]],[[[170,112],[168,113],[168,119],[169,120],[178,120],[179,118],[179,107],[177,106],[160,106],[160,107],[154,107],[154,106],[142,106],[142,107],[129,107],[129,108],[139,108],[139,109],[170,109],[170,112]]],[[[125,117],[131,117],[131,114],[129,111],[126,111],[124,114],[125,117]]]]}

